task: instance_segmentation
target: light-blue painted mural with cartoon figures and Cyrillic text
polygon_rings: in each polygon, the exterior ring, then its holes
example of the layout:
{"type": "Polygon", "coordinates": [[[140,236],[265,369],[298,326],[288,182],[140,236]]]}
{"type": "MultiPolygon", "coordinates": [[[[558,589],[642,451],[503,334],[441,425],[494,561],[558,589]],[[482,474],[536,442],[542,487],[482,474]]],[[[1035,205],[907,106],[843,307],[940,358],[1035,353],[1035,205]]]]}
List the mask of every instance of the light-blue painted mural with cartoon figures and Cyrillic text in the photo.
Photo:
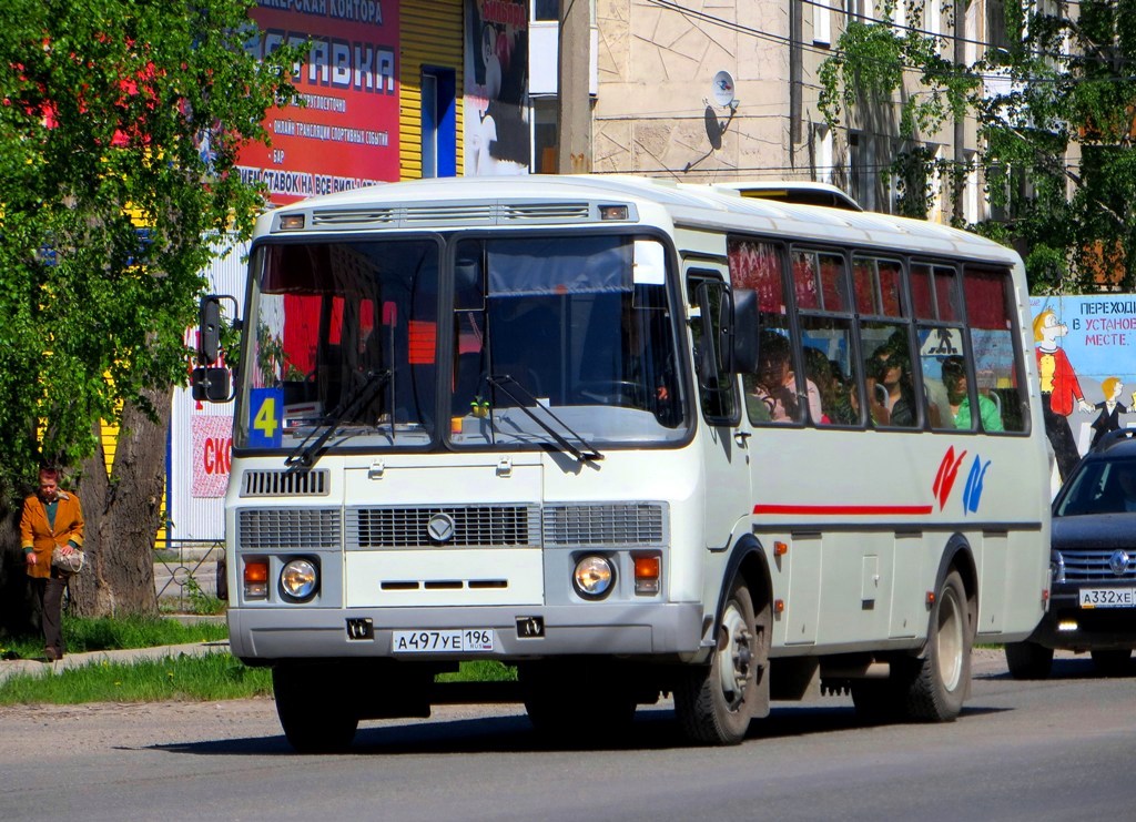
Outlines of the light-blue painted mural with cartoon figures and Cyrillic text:
{"type": "Polygon", "coordinates": [[[1045,433],[1063,480],[1104,434],[1136,426],[1136,295],[1034,296],[1045,433]]]}

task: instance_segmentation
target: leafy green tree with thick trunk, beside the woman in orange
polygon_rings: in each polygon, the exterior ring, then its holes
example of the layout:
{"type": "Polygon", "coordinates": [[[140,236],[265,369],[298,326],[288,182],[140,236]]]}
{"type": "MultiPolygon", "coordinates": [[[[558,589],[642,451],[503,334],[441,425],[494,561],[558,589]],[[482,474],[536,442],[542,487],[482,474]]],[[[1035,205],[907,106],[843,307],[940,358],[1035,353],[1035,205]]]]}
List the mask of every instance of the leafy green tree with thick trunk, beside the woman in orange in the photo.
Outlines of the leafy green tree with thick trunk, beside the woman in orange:
{"type": "MultiPolygon", "coordinates": [[[[170,397],[202,271],[262,192],[235,160],[294,93],[250,0],[12,0],[0,26],[0,545],[41,461],[72,468],[91,560],[85,615],[157,607],[170,397]],[[122,426],[108,476],[100,420],[122,426]]],[[[73,483],[74,487],[74,483],[73,483]]],[[[10,589],[8,592],[10,594],[10,589]]],[[[3,597],[11,602],[11,596],[3,597]]]]}

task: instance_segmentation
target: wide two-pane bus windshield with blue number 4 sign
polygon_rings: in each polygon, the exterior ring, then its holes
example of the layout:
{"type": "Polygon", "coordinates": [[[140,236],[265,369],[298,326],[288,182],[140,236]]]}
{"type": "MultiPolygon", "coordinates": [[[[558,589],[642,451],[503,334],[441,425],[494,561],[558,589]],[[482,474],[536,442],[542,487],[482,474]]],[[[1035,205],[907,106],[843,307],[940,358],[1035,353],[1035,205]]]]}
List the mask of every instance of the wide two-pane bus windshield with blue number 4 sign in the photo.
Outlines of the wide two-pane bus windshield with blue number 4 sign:
{"type": "Polygon", "coordinates": [[[266,244],[234,445],[591,452],[679,439],[666,283],[661,243],[610,234],[266,244]]]}

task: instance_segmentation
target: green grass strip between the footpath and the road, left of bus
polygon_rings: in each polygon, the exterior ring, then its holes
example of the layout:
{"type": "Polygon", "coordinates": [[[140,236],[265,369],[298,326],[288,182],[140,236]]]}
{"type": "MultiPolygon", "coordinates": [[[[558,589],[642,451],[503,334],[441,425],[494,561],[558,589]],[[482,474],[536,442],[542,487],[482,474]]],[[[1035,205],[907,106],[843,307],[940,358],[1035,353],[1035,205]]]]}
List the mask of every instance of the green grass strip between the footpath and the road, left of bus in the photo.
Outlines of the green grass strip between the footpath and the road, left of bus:
{"type": "Polygon", "coordinates": [[[17,673],[0,683],[0,705],[87,702],[211,702],[272,696],[267,668],[248,668],[229,654],[92,662],[42,673],[17,673]]]}

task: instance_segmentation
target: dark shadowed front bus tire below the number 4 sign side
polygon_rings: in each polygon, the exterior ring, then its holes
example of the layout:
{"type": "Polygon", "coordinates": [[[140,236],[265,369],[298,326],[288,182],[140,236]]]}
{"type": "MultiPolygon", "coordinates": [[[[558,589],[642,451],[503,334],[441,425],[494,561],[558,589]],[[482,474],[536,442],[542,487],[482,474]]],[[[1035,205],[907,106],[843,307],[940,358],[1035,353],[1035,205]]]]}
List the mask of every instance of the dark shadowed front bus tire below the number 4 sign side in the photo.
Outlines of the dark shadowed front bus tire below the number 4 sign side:
{"type": "Polygon", "coordinates": [[[336,694],[334,680],[317,677],[314,669],[301,665],[276,665],[273,669],[273,694],[276,715],[289,745],[300,754],[329,754],[351,747],[359,718],[336,694]]]}

